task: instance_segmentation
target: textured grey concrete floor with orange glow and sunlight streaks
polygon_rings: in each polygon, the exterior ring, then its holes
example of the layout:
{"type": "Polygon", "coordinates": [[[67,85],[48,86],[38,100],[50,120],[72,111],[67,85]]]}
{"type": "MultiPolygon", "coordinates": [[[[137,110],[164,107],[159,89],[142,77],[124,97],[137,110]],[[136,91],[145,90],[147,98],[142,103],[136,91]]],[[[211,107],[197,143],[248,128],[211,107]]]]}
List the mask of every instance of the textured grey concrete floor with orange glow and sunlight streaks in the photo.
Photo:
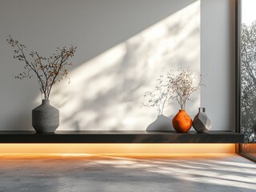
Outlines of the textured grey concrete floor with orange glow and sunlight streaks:
{"type": "Polygon", "coordinates": [[[0,191],[256,191],[256,164],[225,157],[0,156],[0,191]]]}

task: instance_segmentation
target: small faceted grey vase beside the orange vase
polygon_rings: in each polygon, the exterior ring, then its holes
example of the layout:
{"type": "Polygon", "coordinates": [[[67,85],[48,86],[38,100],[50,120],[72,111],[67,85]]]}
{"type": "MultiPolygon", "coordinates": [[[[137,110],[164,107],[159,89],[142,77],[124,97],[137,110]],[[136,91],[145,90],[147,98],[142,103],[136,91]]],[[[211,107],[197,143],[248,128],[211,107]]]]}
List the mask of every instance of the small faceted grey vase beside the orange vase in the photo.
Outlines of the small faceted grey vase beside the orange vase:
{"type": "Polygon", "coordinates": [[[199,107],[198,114],[193,118],[193,128],[200,134],[207,134],[211,129],[211,121],[205,114],[204,107],[199,107]]]}

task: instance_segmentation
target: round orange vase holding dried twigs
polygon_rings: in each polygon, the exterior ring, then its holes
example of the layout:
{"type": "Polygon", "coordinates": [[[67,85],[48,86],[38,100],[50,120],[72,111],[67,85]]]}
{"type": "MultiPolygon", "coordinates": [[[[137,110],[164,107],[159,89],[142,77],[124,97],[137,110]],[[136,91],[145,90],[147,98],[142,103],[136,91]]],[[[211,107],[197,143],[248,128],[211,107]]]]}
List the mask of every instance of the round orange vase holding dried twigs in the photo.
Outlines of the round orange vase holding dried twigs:
{"type": "Polygon", "coordinates": [[[192,119],[185,110],[179,110],[179,112],[173,118],[173,127],[177,133],[187,133],[192,126],[192,119]]]}

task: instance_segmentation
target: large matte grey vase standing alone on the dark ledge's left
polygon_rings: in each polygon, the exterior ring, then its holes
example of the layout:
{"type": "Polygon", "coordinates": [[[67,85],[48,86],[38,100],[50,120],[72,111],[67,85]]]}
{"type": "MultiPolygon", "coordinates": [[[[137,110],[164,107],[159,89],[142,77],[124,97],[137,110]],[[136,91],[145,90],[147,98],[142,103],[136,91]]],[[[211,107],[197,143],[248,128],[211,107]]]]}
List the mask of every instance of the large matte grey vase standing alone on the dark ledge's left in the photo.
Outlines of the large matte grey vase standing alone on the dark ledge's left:
{"type": "Polygon", "coordinates": [[[50,105],[49,100],[32,110],[32,126],[38,133],[52,133],[59,126],[59,110],[50,105]]]}

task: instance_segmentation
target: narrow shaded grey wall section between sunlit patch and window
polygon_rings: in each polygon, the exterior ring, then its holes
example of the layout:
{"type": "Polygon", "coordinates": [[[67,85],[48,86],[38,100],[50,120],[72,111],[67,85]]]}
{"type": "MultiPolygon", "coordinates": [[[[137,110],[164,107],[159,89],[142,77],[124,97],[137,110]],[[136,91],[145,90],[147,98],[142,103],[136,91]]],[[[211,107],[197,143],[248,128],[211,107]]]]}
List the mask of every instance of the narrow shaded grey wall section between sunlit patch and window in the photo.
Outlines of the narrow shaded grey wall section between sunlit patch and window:
{"type": "Polygon", "coordinates": [[[235,129],[235,1],[201,1],[201,106],[216,130],[235,129]]]}

